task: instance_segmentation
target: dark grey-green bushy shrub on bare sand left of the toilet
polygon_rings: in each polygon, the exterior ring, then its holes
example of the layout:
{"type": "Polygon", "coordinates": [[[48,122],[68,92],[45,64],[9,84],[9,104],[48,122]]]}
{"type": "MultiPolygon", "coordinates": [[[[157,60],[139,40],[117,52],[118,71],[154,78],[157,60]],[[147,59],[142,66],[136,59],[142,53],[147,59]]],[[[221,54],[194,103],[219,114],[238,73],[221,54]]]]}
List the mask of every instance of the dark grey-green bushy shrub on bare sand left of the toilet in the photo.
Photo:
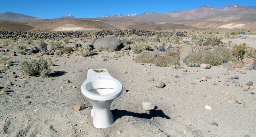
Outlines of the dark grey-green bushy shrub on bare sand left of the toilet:
{"type": "Polygon", "coordinates": [[[20,61],[20,70],[29,76],[46,77],[51,72],[52,61],[33,59],[30,62],[20,61]]]}

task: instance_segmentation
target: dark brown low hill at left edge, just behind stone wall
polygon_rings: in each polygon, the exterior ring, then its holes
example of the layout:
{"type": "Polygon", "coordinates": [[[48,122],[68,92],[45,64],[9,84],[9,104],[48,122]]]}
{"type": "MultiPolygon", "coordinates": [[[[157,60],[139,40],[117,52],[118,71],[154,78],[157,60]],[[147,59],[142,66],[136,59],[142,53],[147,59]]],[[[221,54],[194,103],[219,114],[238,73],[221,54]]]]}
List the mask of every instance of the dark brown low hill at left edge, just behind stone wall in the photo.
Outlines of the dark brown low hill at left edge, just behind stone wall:
{"type": "Polygon", "coordinates": [[[34,27],[26,25],[20,22],[14,22],[9,20],[0,20],[0,30],[5,31],[28,31],[34,27]]]}

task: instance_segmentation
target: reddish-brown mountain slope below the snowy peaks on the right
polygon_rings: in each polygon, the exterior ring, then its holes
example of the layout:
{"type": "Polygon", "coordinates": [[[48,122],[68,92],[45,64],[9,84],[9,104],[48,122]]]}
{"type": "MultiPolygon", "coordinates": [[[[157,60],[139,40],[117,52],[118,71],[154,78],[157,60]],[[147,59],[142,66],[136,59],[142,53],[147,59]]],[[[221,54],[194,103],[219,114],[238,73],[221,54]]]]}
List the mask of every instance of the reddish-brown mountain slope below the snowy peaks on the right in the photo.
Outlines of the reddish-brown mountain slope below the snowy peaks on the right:
{"type": "Polygon", "coordinates": [[[193,10],[167,12],[166,14],[170,15],[173,18],[176,18],[176,20],[197,20],[205,16],[209,16],[220,12],[221,11],[216,9],[201,7],[193,10]]]}

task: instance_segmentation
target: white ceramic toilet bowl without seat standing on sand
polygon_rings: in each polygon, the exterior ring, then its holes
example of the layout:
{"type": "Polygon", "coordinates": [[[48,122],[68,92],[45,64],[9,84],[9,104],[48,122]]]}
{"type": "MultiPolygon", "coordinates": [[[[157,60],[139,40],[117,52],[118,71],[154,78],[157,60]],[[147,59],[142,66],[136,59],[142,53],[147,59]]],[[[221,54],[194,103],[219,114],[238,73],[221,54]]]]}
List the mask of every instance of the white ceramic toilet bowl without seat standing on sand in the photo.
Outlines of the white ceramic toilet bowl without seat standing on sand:
{"type": "Polygon", "coordinates": [[[112,125],[114,118],[109,110],[110,105],[123,93],[123,85],[110,76],[105,68],[89,69],[81,91],[93,105],[91,110],[93,125],[96,128],[106,128],[112,125]]]}

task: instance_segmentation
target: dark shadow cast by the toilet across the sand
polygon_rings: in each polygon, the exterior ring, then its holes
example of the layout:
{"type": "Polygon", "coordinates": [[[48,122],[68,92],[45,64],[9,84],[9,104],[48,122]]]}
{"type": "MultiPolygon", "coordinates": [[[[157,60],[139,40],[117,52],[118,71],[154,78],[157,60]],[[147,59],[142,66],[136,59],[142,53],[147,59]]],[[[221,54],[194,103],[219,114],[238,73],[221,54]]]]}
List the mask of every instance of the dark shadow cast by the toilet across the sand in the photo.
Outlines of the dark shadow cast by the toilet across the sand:
{"type": "Polygon", "coordinates": [[[153,111],[148,111],[146,113],[135,113],[135,112],[130,112],[126,110],[114,109],[114,110],[111,110],[111,112],[114,116],[114,121],[116,121],[116,119],[122,118],[123,116],[132,116],[132,117],[141,118],[141,119],[151,119],[152,117],[161,117],[161,118],[170,119],[170,117],[165,115],[162,110],[153,110],[153,111]]]}

